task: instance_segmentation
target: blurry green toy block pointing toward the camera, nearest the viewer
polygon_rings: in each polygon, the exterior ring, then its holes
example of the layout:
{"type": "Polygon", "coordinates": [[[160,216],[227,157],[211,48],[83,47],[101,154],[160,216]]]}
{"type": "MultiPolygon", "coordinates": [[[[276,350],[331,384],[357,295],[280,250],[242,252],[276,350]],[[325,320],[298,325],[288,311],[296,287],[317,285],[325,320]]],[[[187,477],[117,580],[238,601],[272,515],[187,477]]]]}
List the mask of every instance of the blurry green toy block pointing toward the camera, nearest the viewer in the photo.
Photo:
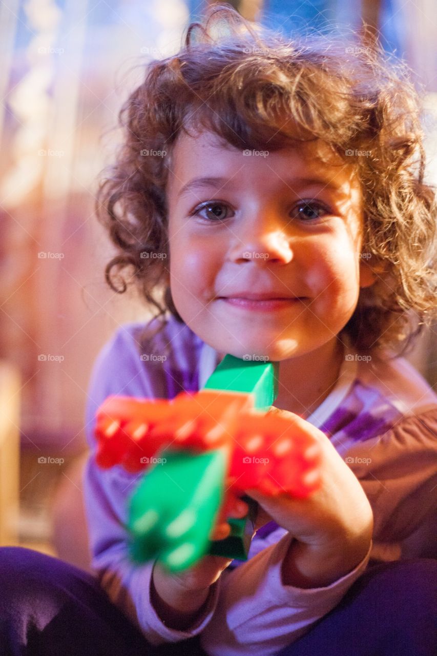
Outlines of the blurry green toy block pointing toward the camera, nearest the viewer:
{"type": "Polygon", "coordinates": [[[131,498],[131,558],[159,559],[170,571],[194,565],[207,552],[223,501],[224,451],[163,451],[131,498]],[[146,511],[144,511],[146,508],[146,511]]]}

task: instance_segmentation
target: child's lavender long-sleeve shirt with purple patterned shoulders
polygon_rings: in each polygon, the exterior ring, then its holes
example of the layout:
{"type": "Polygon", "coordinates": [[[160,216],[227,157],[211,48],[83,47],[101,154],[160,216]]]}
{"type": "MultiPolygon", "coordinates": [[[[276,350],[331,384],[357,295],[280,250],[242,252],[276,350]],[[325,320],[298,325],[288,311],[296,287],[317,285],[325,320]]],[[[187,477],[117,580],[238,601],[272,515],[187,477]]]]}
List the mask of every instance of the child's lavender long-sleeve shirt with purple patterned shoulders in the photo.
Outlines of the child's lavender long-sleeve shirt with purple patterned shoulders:
{"type": "Polygon", "coordinates": [[[94,364],[86,411],[91,454],[84,475],[93,567],[102,587],[154,645],[201,634],[211,656],[268,656],[297,640],[337,605],[369,558],[402,558],[402,542],[435,504],[437,396],[403,359],[368,362],[346,347],[337,385],[308,421],[329,436],[371,502],[371,550],[350,573],[323,588],[284,585],[281,562],[291,535],[275,522],[260,529],[247,562],[234,561],[211,586],[205,611],[187,630],[171,629],[150,600],[154,563],[127,553],[127,500],[140,480],[94,461],[96,409],[110,394],[174,398],[197,391],[220,355],[174,318],[154,336],[157,319],[121,327],[94,364]]]}

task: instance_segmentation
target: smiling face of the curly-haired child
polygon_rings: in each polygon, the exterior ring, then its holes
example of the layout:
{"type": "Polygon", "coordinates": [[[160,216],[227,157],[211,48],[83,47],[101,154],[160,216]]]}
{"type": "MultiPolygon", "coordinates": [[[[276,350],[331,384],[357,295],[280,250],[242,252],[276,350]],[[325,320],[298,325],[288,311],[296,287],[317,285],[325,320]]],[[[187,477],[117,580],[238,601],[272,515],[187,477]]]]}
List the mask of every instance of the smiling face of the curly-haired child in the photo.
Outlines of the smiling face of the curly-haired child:
{"type": "Polygon", "coordinates": [[[247,155],[209,132],[178,138],[167,184],[171,293],[218,352],[309,353],[335,340],[360,285],[373,282],[360,258],[360,184],[340,159],[317,159],[323,147],[247,155]],[[249,295],[281,300],[236,300],[249,295]]]}

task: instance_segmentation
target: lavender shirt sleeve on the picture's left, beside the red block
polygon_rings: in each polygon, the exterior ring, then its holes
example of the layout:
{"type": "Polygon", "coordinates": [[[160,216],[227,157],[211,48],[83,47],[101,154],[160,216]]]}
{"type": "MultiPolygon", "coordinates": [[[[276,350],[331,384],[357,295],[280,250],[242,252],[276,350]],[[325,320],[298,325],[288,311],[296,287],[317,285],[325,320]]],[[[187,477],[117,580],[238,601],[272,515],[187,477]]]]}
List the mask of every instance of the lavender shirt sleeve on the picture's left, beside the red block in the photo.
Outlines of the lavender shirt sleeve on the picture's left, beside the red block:
{"type": "MultiPolygon", "coordinates": [[[[147,363],[149,365],[149,363],[147,363]]],[[[153,645],[190,638],[205,628],[217,604],[220,579],[211,586],[209,602],[203,616],[188,630],[173,630],[157,616],[150,601],[150,584],[154,562],[136,566],[127,552],[127,499],[140,480],[115,466],[102,470],[94,460],[94,425],[96,409],[110,394],[154,398],[157,369],[146,367],[140,359],[129,327],[122,327],[104,346],[94,364],[86,411],[87,440],[91,453],[83,477],[83,489],[92,566],[106,593],[144,633],[153,645]]],[[[162,383],[162,375],[160,378],[162,383]]]]}

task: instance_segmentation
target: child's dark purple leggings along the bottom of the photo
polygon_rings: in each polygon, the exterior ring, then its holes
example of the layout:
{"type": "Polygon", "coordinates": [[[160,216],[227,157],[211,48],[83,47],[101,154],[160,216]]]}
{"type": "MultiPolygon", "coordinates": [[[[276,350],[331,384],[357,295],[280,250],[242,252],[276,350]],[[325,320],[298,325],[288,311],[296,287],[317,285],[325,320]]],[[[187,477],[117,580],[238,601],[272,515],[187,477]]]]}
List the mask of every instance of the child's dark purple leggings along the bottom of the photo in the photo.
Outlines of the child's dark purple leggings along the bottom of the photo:
{"type": "MultiPolygon", "coordinates": [[[[281,656],[434,656],[437,561],[368,567],[281,656]]],[[[250,646],[247,649],[249,656],[250,646]]],[[[198,637],[152,647],[88,573],[0,548],[1,656],[204,656],[198,637]]]]}

